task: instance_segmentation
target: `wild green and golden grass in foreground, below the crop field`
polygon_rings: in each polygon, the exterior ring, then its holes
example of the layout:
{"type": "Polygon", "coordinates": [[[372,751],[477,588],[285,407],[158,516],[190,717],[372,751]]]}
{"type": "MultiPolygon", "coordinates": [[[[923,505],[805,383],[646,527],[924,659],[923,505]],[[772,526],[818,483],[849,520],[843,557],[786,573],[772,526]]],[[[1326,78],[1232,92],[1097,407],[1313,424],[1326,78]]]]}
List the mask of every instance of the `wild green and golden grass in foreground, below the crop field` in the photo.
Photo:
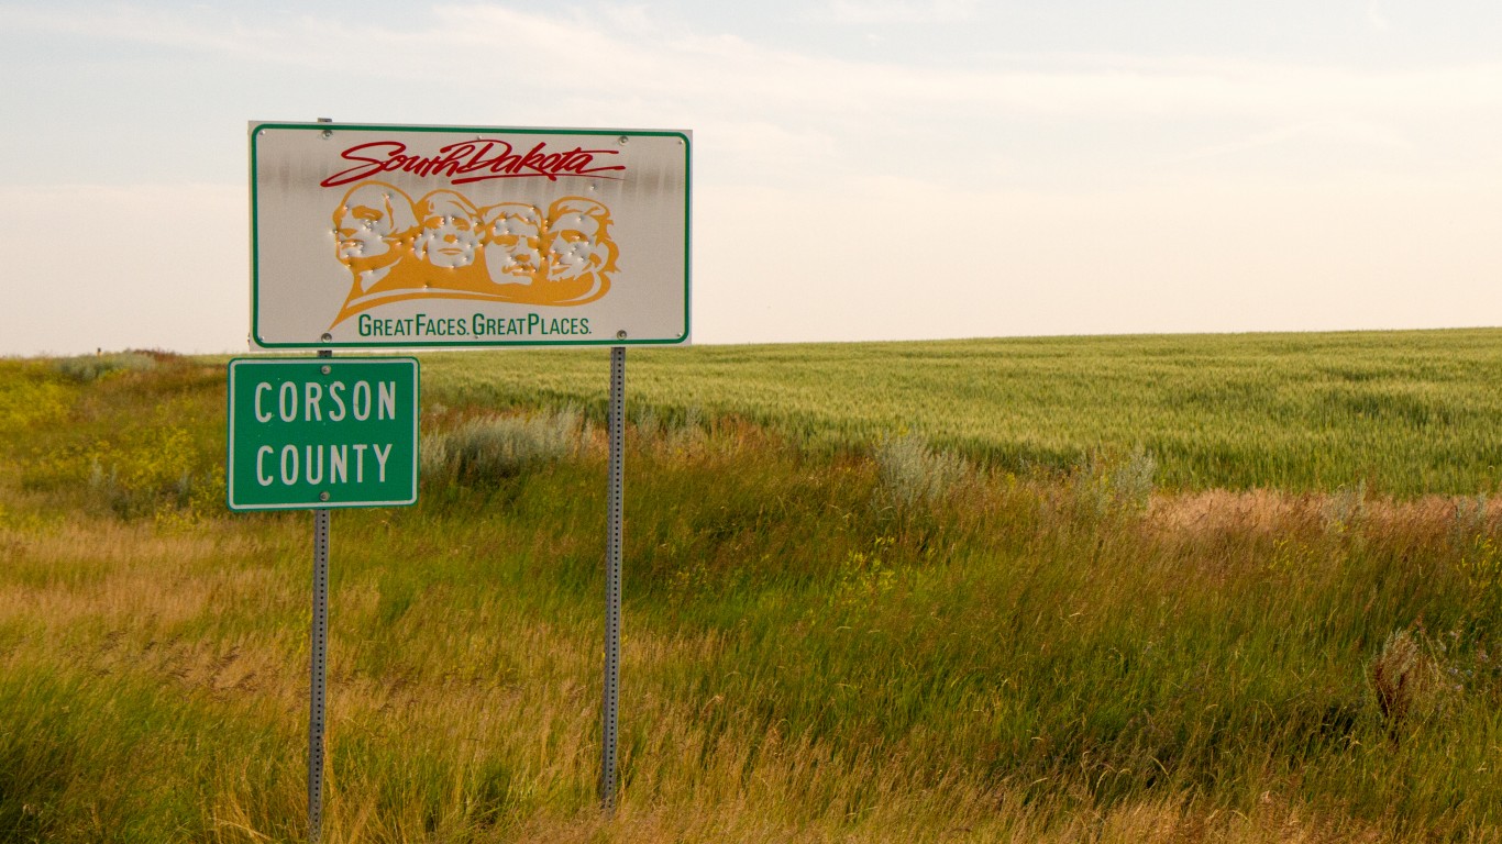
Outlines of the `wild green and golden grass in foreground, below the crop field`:
{"type": "MultiPolygon", "coordinates": [[[[1497,592],[1497,499],[1149,497],[1151,478],[1093,461],[1029,475],[952,455],[934,460],[963,478],[883,497],[892,479],[855,446],[799,451],[730,416],[638,422],[617,814],[593,793],[592,430],[559,466],[335,520],[326,841],[1497,838],[1496,809],[1461,794],[1497,793],[1481,766],[1502,742],[1478,715],[1496,692],[1442,689],[1434,710],[1460,727],[1362,733],[1364,683],[1391,671],[1368,680],[1380,653],[1358,629],[1380,614],[1377,646],[1412,631],[1415,661],[1439,665],[1418,622],[1497,592]],[[1398,587],[1379,596],[1373,572],[1398,587]],[[1272,662],[1289,653],[1292,679],[1272,662]],[[1299,770],[1325,761],[1308,743],[1349,770],[1299,770]],[[1439,832],[1388,814],[1410,794],[1439,832]]],[[[69,449],[38,460],[84,466],[69,449]]],[[[167,488],[110,511],[23,475],[0,464],[0,695],[23,724],[18,740],[0,725],[0,788],[20,770],[56,806],[30,829],[302,838],[306,514],[219,517],[167,488]]]]}

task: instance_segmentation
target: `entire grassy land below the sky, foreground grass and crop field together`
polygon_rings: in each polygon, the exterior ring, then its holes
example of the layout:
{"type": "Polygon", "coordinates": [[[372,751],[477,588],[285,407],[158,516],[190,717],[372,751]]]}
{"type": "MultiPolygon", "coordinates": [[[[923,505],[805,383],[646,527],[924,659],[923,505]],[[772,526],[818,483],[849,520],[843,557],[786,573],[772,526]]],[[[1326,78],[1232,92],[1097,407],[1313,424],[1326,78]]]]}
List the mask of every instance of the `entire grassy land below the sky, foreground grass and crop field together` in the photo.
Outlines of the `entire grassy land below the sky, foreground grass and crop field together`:
{"type": "MultiPolygon", "coordinates": [[[[1502,330],[422,354],[333,514],[330,842],[1502,841],[1502,330]]],[[[0,841],[305,841],[227,359],[0,359],[0,841]]]]}

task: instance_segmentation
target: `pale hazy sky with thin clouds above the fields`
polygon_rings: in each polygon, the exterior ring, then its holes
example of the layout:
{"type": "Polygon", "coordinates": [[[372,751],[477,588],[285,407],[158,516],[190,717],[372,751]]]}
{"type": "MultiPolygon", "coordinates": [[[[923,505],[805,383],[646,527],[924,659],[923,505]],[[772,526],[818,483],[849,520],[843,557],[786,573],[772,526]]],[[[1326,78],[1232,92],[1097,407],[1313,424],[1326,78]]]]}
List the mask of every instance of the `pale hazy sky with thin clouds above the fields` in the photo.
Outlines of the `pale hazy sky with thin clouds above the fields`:
{"type": "Polygon", "coordinates": [[[1502,324],[1494,0],[0,2],[0,354],[245,351],[251,120],[688,129],[694,342],[1502,324]]]}

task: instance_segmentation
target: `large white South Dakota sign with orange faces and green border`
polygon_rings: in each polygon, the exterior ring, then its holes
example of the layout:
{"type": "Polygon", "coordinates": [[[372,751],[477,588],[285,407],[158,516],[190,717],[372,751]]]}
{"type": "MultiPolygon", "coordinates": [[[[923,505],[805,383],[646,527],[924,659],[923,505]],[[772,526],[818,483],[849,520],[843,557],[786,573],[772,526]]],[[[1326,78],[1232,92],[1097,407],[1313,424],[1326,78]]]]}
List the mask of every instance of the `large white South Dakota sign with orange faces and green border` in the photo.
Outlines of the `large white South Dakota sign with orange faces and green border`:
{"type": "Polygon", "coordinates": [[[251,341],[688,342],[689,141],[251,123],[251,341]]]}

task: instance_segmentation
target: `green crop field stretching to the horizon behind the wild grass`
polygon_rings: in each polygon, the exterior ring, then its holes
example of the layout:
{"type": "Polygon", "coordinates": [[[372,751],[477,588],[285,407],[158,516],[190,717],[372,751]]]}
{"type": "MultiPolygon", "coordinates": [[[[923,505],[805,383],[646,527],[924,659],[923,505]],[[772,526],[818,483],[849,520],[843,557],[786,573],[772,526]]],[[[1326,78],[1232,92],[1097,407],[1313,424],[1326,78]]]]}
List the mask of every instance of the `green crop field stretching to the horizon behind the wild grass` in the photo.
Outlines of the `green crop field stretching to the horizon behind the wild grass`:
{"type": "MultiPolygon", "coordinates": [[[[449,404],[593,407],[604,351],[424,359],[449,404]]],[[[1143,449],[1170,490],[1494,493],[1502,332],[970,339],[631,350],[631,401],[841,449],[900,431],[1011,472],[1143,449]]]]}

